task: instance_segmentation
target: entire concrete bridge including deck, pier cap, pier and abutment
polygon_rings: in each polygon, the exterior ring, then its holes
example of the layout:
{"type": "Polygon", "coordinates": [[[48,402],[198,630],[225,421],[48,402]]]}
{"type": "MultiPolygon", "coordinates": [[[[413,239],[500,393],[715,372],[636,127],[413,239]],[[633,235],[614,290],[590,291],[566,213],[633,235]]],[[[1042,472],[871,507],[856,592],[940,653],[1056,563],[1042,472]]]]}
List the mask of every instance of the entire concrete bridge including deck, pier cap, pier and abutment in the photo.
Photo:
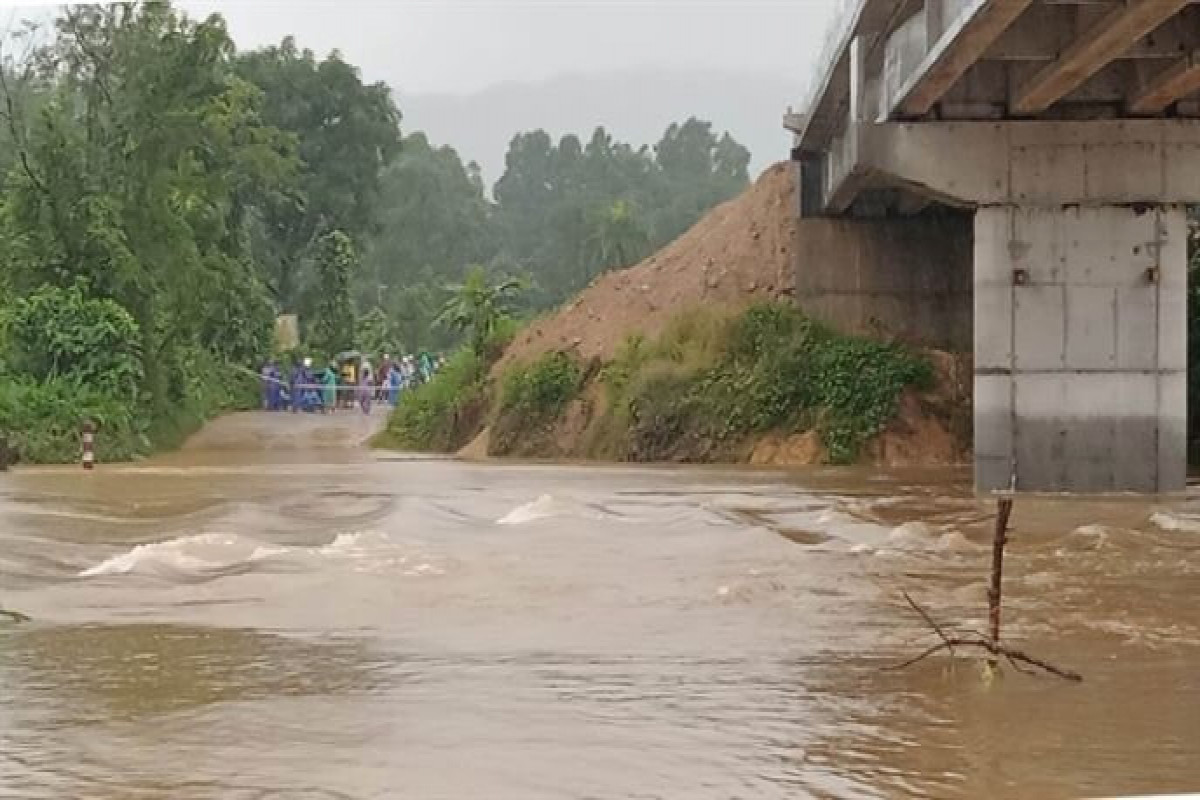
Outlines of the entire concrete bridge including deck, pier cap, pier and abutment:
{"type": "Polygon", "coordinates": [[[904,327],[973,296],[980,489],[1182,489],[1200,4],[844,6],[785,127],[802,218],[858,243],[802,253],[802,301],[904,327]]]}

